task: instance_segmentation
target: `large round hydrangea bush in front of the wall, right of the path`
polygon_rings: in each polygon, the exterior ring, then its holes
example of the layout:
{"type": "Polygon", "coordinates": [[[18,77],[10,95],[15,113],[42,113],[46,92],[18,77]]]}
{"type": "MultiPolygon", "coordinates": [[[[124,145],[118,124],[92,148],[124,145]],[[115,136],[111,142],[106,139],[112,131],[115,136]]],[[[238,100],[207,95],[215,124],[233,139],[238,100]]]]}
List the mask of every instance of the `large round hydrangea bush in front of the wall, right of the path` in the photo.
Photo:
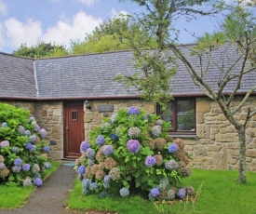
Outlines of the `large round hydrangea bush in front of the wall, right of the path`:
{"type": "Polygon", "coordinates": [[[81,143],[75,169],[83,194],[128,196],[140,191],[151,201],[194,194],[183,187],[191,174],[182,140],[168,136],[169,123],[132,106],[105,118],[81,143]]]}

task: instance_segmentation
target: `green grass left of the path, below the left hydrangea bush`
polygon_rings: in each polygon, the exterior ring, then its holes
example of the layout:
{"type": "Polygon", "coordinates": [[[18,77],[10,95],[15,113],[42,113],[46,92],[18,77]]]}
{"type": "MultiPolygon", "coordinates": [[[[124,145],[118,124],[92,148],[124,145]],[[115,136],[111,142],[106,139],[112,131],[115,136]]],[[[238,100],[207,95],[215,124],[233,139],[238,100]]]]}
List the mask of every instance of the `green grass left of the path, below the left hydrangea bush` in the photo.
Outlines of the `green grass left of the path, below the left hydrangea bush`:
{"type": "MultiPolygon", "coordinates": [[[[60,162],[50,161],[51,167],[42,174],[42,179],[45,180],[47,176],[53,173],[57,167],[60,166],[60,162]]],[[[17,208],[26,204],[27,198],[32,194],[36,187],[18,187],[18,186],[5,186],[0,185],[0,209],[17,208]]]]}

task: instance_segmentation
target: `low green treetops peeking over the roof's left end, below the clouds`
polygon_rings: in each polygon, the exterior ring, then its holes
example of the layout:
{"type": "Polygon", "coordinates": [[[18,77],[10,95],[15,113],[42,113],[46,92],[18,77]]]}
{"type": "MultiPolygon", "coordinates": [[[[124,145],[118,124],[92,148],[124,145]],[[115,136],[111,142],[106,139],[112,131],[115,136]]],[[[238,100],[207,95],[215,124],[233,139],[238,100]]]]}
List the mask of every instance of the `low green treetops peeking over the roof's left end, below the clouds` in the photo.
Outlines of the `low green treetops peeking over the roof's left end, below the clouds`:
{"type": "Polygon", "coordinates": [[[29,58],[50,58],[67,56],[68,51],[63,46],[51,45],[51,43],[38,42],[36,46],[27,47],[21,44],[20,47],[13,51],[13,55],[29,58]]]}

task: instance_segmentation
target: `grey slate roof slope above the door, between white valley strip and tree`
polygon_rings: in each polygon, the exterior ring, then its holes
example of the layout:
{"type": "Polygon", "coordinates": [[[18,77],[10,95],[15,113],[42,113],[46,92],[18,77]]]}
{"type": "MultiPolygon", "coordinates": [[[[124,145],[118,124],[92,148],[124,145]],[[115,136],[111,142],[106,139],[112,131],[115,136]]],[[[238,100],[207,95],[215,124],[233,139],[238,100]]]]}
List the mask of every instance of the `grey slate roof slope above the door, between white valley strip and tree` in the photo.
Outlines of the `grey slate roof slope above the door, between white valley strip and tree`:
{"type": "Polygon", "coordinates": [[[119,73],[134,69],[130,51],[36,60],[40,98],[94,98],[137,96],[115,82],[119,73]]]}

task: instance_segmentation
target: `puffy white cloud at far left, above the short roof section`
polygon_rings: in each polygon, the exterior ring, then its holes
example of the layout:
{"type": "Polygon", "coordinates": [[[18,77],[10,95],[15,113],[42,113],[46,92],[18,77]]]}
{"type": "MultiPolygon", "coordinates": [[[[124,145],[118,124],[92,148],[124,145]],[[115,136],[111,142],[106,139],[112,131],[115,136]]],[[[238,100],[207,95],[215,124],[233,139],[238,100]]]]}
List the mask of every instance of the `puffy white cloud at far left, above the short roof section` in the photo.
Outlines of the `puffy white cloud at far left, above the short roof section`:
{"type": "Polygon", "coordinates": [[[4,21],[0,36],[2,36],[2,41],[5,40],[7,43],[5,45],[17,48],[20,47],[21,43],[26,43],[27,46],[34,46],[41,34],[42,29],[39,21],[28,19],[25,23],[22,23],[15,18],[9,18],[4,21]]]}

